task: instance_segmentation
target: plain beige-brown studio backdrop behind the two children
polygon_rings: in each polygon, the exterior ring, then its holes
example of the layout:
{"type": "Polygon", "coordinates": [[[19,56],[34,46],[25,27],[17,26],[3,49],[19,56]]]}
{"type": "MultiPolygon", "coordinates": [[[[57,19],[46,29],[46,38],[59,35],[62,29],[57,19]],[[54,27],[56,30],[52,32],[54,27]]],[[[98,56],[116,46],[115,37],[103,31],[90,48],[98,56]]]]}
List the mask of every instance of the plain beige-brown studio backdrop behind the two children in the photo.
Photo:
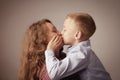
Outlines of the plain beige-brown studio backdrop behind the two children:
{"type": "Polygon", "coordinates": [[[70,12],[94,18],[92,48],[112,79],[120,80],[119,0],[0,0],[0,80],[18,80],[21,44],[29,25],[48,18],[61,30],[70,12]]]}

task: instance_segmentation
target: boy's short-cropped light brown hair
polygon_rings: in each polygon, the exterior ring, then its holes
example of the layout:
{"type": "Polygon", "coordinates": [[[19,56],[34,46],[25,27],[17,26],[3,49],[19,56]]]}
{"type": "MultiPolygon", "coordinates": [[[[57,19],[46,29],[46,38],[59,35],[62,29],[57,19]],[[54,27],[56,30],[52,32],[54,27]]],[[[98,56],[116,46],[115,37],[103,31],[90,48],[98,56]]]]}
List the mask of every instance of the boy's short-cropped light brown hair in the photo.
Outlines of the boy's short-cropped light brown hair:
{"type": "Polygon", "coordinates": [[[96,30],[96,25],[93,18],[87,13],[70,13],[67,18],[75,21],[78,29],[83,33],[83,39],[89,39],[96,30]]]}

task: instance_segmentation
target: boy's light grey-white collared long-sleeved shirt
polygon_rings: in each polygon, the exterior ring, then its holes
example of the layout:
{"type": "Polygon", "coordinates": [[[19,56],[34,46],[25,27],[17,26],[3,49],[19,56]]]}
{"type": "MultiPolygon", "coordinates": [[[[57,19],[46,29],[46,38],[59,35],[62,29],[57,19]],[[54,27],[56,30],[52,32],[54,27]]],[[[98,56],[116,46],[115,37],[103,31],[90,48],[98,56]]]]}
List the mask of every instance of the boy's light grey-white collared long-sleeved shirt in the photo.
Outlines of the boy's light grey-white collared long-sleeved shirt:
{"type": "Polygon", "coordinates": [[[92,51],[89,40],[69,48],[67,56],[62,60],[57,59],[52,50],[46,50],[45,57],[48,75],[52,80],[59,80],[76,72],[81,80],[111,80],[92,51]]]}

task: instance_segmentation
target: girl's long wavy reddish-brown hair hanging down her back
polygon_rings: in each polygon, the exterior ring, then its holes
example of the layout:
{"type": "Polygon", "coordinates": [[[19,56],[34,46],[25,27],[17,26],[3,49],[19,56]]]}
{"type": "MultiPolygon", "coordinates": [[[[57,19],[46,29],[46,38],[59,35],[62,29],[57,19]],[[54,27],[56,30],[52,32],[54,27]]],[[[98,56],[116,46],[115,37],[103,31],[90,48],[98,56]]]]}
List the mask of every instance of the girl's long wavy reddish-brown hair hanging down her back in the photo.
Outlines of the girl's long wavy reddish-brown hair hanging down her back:
{"type": "Polygon", "coordinates": [[[39,73],[45,63],[48,19],[33,23],[26,31],[19,72],[19,80],[39,80],[39,73]]]}

